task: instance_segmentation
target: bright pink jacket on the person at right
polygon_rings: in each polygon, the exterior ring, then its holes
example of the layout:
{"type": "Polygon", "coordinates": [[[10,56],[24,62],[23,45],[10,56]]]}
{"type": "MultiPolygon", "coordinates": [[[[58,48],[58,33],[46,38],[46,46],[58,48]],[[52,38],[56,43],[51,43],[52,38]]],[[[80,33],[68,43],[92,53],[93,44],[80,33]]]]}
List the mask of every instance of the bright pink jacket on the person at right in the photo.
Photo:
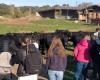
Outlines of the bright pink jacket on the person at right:
{"type": "Polygon", "coordinates": [[[81,40],[74,49],[75,59],[80,62],[90,62],[89,47],[90,42],[88,40],[81,40]]]}

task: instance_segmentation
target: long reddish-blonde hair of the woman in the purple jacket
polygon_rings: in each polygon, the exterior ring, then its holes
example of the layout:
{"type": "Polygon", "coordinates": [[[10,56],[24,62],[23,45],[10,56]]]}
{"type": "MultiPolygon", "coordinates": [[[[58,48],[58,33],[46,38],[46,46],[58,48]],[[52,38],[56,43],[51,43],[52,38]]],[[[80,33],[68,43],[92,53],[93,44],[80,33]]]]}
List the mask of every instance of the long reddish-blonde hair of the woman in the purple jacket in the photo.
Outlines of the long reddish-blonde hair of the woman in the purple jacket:
{"type": "Polygon", "coordinates": [[[64,48],[59,36],[54,36],[53,40],[51,42],[51,45],[48,49],[48,57],[53,56],[52,50],[55,47],[59,47],[59,55],[65,56],[65,48],[64,48]]]}

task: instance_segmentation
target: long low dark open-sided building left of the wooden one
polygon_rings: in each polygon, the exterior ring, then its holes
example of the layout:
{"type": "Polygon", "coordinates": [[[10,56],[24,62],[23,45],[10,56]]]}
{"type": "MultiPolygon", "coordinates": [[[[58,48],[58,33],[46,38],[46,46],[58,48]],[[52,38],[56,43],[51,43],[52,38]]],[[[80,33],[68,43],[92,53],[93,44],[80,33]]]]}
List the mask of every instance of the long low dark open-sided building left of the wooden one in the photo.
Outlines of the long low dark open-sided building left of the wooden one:
{"type": "Polygon", "coordinates": [[[45,18],[68,18],[77,19],[78,13],[76,7],[56,6],[38,11],[45,18]]]}

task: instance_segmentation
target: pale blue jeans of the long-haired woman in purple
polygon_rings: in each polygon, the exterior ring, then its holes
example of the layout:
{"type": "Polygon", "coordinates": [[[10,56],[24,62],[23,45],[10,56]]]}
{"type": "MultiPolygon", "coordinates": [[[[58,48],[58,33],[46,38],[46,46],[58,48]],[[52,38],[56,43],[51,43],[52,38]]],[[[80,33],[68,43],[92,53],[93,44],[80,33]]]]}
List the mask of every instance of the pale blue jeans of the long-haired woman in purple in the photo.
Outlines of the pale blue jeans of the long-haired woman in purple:
{"type": "Polygon", "coordinates": [[[48,70],[49,80],[63,80],[63,71],[48,70]]]}

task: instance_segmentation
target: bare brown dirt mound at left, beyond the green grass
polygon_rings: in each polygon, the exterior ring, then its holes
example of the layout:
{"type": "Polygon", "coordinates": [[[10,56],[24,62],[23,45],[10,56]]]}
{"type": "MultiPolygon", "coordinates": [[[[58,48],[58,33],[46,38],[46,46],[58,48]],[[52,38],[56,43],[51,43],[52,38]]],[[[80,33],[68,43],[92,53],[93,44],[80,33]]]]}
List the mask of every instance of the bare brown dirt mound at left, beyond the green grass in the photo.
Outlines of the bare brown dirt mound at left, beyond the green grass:
{"type": "Polygon", "coordinates": [[[5,24],[27,24],[31,23],[33,21],[38,21],[41,20],[42,18],[40,16],[34,16],[34,15],[29,15],[21,18],[5,18],[5,17],[0,17],[0,23],[5,23],[5,24]]]}

